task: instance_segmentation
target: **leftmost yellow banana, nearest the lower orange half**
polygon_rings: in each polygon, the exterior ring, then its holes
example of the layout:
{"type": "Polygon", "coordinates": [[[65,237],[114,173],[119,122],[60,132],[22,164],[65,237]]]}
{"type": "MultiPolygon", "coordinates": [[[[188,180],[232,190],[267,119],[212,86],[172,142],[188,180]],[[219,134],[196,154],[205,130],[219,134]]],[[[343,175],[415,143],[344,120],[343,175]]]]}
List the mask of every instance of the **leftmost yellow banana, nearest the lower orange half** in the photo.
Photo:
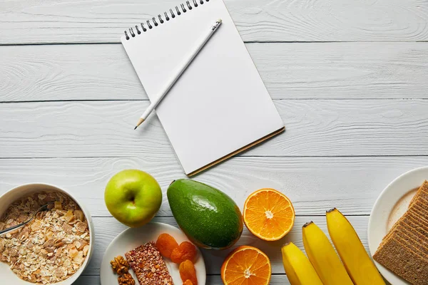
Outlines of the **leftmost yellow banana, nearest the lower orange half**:
{"type": "Polygon", "coordinates": [[[323,285],[305,254],[292,242],[281,249],[282,263],[291,285],[323,285]]]}

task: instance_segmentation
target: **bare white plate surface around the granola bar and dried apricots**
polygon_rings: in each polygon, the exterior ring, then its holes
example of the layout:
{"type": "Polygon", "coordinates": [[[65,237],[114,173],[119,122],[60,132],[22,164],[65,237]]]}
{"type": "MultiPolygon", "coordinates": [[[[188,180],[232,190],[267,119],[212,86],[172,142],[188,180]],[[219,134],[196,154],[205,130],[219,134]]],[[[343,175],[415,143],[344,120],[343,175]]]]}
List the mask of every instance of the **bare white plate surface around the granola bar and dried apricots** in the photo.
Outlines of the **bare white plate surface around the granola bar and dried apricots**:
{"type": "MultiPolygon", "coordinates": [[[[188,238],[185,236],[180,229],[170,226],[169,224],[163,224],[158,222],[150,222],[145,224],[143,227],[130,228],[126,229],[121,234],[119,234],[113,241],[108,245],[106,252],[104,253],[103,261],[101,263],[101,285],[118,285],[118,276],[113,273],[111,269],[110,261],[121,255],[125,257],[125,252],[128,252],[136,247],[139,247],[147,242],[156,242],[159,234],[170,234],[175,238],[175,240],[180,244],[181,242],[188,241],[188,238]]],[[[198,284],[205,285],[206,273],[205,273],[205,264],[203,262],[202,254],[198,250],[198,259],[195,263],[196,275],[198,277],[198,284]]],[[[178,271],[178,264],[174,264],[170,259],[165,260],[166,266],[170,275],[173,277],[174,284],[183,284],[180,278],[180,272],[178,271]]],[[[136,279],[133,271],[130,271],[136,284],[138,281],[136,279]]]]}

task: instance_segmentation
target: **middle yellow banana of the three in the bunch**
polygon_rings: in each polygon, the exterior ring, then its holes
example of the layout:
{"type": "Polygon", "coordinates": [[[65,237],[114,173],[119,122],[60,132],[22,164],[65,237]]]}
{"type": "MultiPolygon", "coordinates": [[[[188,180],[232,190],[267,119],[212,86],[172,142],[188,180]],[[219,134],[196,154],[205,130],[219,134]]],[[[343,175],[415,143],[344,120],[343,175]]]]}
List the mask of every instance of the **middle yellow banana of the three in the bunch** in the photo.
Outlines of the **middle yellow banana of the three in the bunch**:
{"type": "Polygon", "coordinates": [[[353,285],[335,249],[322,230],[313,222],[302,228],[303,245],[310,263],[324,285],[353,285]]]}

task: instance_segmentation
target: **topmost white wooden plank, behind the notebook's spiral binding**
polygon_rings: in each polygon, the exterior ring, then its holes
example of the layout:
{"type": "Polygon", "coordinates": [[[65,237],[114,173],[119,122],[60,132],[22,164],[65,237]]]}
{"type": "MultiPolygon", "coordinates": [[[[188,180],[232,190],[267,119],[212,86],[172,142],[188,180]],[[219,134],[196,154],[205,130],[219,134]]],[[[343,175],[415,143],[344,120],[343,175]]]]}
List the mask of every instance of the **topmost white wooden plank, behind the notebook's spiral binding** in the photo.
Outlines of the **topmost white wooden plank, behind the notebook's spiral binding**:
{"type": "MultiPolygon", "coordinates": [[[[117,43],[125,29],[163,14],[178,3],[177,0],[6,1],[0,6],[0,44],[117,43]]],[[[244,41],[428,39],[428,4],[424,0],[225,0],[225,3],[244,41]]]]}

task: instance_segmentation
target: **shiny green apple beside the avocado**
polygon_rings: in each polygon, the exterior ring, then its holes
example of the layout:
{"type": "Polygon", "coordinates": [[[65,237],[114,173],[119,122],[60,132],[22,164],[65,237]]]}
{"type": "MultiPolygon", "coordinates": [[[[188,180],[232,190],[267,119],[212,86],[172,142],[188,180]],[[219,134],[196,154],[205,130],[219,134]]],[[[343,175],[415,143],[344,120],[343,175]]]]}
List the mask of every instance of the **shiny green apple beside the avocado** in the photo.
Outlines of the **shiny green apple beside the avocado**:
{"type": "Polygon", "coordinates": [[[111,177],[104,192],[108,212],[128,227],[150,222],[162,204],[158,182],[141,170],[123,170],[111,177]]]}

